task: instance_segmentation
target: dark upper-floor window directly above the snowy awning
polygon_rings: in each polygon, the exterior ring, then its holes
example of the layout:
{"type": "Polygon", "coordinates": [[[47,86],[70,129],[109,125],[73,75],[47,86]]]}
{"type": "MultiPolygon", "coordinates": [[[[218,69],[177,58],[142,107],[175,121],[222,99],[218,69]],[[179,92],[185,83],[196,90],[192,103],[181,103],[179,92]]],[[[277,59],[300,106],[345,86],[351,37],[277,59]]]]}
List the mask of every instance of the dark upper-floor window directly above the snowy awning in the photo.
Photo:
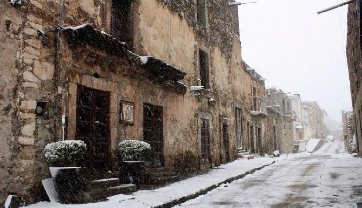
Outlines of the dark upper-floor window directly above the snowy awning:
{"type": "Polygon", "coordinates": [[[112,0],[111,34],[122,42],[131,42],[132,38],[132,0],[112,0]]]}

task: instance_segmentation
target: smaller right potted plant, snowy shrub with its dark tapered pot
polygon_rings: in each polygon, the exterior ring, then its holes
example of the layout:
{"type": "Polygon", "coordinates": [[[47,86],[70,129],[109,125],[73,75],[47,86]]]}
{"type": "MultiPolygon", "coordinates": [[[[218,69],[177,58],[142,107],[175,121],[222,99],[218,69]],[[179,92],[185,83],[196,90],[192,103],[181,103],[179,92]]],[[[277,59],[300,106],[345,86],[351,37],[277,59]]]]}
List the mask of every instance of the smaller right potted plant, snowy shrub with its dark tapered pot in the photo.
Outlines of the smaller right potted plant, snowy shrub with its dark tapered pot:
{"type": "Polygon", "coordinates": [[[124,140],[118,144],[122,165],[131,183],[141,185],[145,159],[150,157],[151,145],[138,140],[124,140]]]}

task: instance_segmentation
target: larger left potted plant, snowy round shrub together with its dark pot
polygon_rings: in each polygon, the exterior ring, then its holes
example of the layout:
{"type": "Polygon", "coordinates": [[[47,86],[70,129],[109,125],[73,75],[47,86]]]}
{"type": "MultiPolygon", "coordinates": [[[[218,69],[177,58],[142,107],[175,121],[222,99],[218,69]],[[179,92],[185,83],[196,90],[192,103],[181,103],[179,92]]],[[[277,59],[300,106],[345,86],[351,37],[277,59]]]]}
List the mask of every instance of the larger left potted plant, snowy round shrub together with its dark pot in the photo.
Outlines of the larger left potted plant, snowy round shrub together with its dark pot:
{"type": "Polygon", "coordinates": [[[81,182],[80,167],[77,165],[86,152],[87,146],[83,141],[58,141],[45,146],[44,158],[49,164],[59,202],[66,204],[78,202],[81,182]]]}

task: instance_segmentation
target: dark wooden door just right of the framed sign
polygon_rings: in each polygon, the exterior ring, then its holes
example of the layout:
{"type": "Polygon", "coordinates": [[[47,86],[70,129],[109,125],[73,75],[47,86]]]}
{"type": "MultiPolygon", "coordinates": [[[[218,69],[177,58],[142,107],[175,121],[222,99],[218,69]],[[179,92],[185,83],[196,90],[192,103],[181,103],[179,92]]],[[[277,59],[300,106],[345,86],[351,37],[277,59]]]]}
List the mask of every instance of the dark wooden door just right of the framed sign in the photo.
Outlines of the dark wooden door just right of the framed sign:
{"type": "Polygon", "coordinates": [[[149,167],[163,167],[165,165],[162,116],[162,106],[144,103],[143,138],[152,147],[152,155],[147,164],[149,167]]]}

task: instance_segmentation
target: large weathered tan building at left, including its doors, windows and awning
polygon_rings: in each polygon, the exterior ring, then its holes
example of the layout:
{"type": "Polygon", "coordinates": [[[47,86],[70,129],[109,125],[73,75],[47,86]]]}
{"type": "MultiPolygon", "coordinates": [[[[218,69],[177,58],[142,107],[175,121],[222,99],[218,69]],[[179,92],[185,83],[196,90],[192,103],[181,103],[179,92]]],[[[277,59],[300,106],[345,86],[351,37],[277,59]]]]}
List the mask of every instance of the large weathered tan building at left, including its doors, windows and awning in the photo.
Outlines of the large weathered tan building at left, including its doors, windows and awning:
{"type": "Polygon", "coordinates": [[[63,136],[84,140],[99,171],[118,170],[125,139],[152,145],[150,168],[262,153],[264,81],[242,61],[228,2],[0,2],[0,204],[40,200],[42,151],[63,136]]]}

